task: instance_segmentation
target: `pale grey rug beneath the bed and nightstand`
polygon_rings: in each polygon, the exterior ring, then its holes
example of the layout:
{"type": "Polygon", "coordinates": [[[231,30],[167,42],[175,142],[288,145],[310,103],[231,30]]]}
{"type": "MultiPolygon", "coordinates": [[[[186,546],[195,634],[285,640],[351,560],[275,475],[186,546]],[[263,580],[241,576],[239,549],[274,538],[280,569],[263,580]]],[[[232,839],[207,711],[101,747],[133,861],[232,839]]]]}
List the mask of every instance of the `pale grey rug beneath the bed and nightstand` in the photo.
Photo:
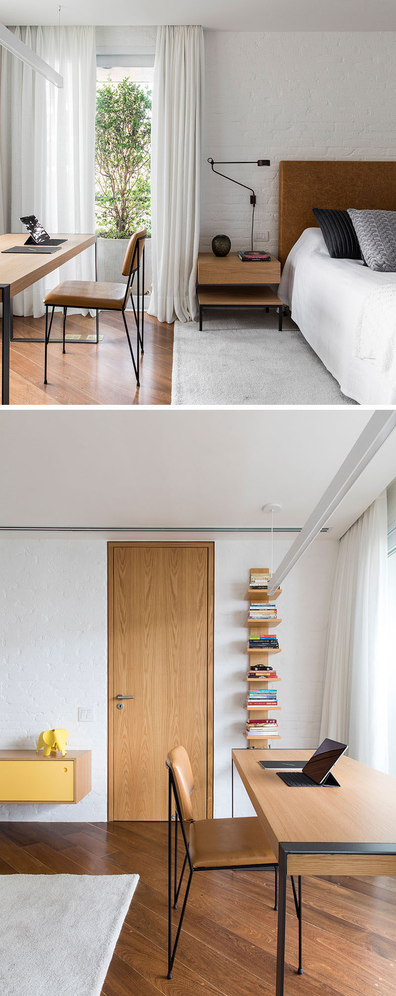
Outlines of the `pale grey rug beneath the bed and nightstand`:
{"type": "Polygon", "coordinates": [[[204,311],[175,322],[172,404],[355,404],[284,316],[276,312],[204,311]]]}

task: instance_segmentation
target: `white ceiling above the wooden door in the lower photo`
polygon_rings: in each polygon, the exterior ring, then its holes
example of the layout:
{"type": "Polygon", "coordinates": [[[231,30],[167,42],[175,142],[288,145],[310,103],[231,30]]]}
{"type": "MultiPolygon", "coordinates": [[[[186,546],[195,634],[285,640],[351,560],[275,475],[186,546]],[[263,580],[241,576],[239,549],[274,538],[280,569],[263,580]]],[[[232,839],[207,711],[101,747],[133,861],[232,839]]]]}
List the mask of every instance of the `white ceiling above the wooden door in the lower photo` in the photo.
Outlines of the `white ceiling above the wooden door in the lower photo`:
{"type": "MultiPolygon", "coordinates": [[[[330,410],[1,414],[1,526],[302,526],[370,417],[330,410]]],[[[395,477],[396,431],[329,523],[338,538],[395,477]]]]}

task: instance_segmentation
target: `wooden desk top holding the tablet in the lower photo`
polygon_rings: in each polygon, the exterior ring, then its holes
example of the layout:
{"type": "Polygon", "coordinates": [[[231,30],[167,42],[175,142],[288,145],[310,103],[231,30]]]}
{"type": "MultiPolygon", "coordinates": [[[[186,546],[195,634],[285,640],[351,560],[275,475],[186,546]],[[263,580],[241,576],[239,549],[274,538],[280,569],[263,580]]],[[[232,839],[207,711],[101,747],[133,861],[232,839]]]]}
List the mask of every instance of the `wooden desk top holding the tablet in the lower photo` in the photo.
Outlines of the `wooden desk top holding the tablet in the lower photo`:
{"type": "Polygon", "coordinates": [[[276,855],[280,842],[394,844],[396,778],[341,757],[340,788],[292,788],[259,761],[311,757],[307,750],[233,750],[233,759],[276,855]]]}

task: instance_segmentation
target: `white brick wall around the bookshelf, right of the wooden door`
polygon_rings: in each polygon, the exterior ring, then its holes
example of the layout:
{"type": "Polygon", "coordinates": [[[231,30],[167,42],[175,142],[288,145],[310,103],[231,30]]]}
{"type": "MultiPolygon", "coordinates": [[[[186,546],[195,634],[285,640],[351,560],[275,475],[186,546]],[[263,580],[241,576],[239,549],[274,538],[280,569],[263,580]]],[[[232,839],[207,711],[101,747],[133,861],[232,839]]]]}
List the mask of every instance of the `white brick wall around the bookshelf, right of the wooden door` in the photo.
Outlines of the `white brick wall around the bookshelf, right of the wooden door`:
{"type": "MultiPolygon", "coordinates": [[[[292,541],[275,541],[274,565],[281,563],[292,541]]],[[[331,585],[338,543],[316,540],[284,582],[277,602],[283,622],[277,627],[282,653],[274,657],[282,681],[278,716],[280,747],[316,747],[323,685],[324,650],[331,585]]],[[[216,543],[215,613],[215,816],[231,816],[231,749],[246,747],[247,712],[244,654],[249,630],[244,625],[244,598],[251,567],[271,564],[267,540],[216,543]]],[[[277,746],[274,741],[273,746],[277,746]]],[[[234,815],[253,808],[236,773],[234,815]]]]}

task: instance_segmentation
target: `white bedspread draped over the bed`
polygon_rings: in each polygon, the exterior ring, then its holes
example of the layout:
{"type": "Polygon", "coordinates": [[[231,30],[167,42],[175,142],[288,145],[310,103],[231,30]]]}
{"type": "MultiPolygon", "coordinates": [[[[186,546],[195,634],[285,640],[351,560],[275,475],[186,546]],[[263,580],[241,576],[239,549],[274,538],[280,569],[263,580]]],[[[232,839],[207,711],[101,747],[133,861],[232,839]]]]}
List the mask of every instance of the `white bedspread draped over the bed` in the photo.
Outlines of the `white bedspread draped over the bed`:
{"type": "Polygon", "coordinates": [[[344,394],[360,404],[395,403],[396,273],[331,259],[320,229],[305,228],[279,295],[344,394]]]}

